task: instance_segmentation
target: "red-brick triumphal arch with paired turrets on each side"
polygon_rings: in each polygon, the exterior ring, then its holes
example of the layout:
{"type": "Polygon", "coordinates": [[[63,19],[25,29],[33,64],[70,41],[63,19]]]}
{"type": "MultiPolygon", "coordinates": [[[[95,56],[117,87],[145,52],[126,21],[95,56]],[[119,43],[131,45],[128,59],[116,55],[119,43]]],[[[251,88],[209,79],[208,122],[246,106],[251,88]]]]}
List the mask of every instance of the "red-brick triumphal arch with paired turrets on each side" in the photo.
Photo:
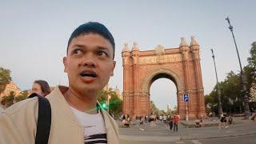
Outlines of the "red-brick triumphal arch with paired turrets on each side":
{"type": "Polygon", "coordinates": [[[169,78],[177,88],[180,117],[186,118],[186,113],[190,119],[206,116],[199,45],[193,36],[190,46],[181,38],[178,48],[157,46],[154,50],[140,51],[135,42],[132,50],[125,44],[122,66],[123,114],[149,115],[151,84],[158,78],[169,78]],[[183,102],[183,94],[190,95],[187,104],[183,102]]]}

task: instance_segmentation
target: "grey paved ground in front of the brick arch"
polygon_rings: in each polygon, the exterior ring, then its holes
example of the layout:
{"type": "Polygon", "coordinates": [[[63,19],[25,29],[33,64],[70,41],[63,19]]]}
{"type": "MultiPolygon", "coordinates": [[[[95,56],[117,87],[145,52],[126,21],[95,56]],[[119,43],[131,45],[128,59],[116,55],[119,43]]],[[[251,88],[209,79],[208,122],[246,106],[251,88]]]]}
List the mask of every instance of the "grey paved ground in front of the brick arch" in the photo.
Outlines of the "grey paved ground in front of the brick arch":
{"type": "MultiPolygon", "coordinates": [[[[218,129],[216,125],[218,124],[218,120],[213,119],[210,119],[208,124],[207,120],[204,121],[208,126],[201,128],[187,128],[182,122],[178,124],[178,132],[170,131],[162,122],[158,122],[154,127],[149,124],[144,124],[140,127],[136,125],[130,126],[130,128],[120,127],[121,143],[170,143],[179,141],[190,141],[194,143],[193,141],[195,140],[214,140],[214,138],[238,138],[246,136],[254,136],[256,138],[256,122],[242,120],[242,118],[234,118],[234,125],[226,129],[218,129]]],[[[194,121],[186,123],[194,123],[194,121]]]]}

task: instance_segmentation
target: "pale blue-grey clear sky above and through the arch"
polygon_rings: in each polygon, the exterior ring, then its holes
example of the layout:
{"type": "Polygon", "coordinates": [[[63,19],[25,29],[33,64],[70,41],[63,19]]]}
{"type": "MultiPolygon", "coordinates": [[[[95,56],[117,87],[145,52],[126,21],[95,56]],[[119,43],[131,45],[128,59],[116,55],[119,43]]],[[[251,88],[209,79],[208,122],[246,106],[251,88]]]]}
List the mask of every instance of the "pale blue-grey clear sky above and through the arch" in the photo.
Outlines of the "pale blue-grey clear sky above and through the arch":
{"type": "MultiPolygon", "coordinates": [[[[122,48],[138,42],[140,50],[162,45],[176,48],[180,38],[190,43],[194,35],[200,45],[204,93],[214,89],[216,78],[210,49],[214,49],[219,81],[233,70],[238,73],[238,56],[228,23],[230,17],[242,66],[256,41],[256,1],[1,1],[0,66],[11,70],[21,90],[36,79],[50,86],[68,85],[62,58],[68,38],[84,22],[102,22],[116,42],[114,76],[110,86],[122,91],[122,48]]],[[[176,86],[160,78],[150,87],[150,100],[161,110],[177,105],[176,86]]]]}

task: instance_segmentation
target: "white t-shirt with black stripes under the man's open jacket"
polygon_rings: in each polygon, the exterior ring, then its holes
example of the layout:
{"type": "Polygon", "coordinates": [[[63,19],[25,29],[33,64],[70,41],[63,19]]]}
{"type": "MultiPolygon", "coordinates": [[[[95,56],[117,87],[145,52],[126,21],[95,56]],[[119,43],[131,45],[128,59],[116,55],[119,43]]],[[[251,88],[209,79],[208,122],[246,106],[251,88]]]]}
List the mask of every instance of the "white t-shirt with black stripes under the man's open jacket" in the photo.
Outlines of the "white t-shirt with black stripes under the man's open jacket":
{"type": "Polygon", "coordinates": [[[71,106],[70,108],[84,128],[85,144],[107,143],[105,122],[100,112],[98,114],[86,114],[71,106]]]}

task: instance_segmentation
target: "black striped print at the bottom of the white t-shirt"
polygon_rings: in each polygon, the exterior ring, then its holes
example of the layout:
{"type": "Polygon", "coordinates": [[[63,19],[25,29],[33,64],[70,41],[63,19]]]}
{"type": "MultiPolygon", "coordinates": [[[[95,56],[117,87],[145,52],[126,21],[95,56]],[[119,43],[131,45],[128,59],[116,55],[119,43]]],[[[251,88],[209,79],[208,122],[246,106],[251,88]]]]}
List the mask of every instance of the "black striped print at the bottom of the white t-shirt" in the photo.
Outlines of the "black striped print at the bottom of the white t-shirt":
{"type": "Polygon", "coordinates": [[[107,143],[106,134],[93,134],[84,137],[85,144],[103,144],[107,143]]]}

